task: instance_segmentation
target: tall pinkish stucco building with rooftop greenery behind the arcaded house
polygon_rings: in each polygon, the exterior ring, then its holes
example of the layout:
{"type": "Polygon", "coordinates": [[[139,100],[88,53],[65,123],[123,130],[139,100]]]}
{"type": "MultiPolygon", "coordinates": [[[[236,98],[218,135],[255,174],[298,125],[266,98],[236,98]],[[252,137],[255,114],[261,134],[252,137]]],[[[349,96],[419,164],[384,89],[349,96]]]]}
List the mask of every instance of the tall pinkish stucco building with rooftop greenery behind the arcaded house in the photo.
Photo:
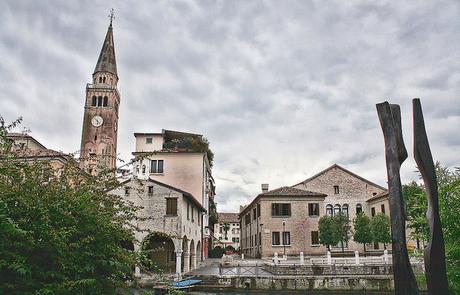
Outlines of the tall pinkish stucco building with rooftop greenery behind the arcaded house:
{"type": "Polygon", "coordinates": [[[214,210],[215,183],[209,150],[202,135],[163,130],[161,133],[135,133],[133,175],[152,179],[190,193],[205,208],[200,212],[203,257],[207,257],[214,210]]]}

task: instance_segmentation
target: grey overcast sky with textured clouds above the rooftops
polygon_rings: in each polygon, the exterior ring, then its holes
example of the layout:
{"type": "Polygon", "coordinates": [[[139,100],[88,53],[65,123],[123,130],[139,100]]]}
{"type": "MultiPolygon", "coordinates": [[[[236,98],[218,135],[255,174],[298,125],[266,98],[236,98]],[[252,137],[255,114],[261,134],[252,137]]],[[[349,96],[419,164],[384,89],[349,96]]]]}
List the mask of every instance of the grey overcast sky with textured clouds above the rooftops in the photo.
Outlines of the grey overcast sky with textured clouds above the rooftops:
{"type": "Polygon", "coordinates": [[[403,111],[403,181],[417,179],[413,97],[434,158],[459,166],[458,1],[110,2],[0,3],[0,115],[49,148],[79,149],[113,7],[120,156],[133,132],[204,134],[220,211],[333,163],[385,186],[384,100],[403,111]]]}

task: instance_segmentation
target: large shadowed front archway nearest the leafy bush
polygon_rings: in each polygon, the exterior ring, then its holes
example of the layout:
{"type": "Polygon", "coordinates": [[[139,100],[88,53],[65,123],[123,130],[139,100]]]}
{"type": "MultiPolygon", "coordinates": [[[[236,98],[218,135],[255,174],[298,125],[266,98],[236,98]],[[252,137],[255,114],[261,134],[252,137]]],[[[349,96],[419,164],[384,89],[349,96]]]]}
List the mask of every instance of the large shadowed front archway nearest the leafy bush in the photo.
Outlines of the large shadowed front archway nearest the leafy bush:
{"type": "Polygon", "coordinates": [[[142,251],[165,273],[176,271],[176,253],[174,250],[172,239],[160,232],[149,234],[142,243],[142,251]]]}

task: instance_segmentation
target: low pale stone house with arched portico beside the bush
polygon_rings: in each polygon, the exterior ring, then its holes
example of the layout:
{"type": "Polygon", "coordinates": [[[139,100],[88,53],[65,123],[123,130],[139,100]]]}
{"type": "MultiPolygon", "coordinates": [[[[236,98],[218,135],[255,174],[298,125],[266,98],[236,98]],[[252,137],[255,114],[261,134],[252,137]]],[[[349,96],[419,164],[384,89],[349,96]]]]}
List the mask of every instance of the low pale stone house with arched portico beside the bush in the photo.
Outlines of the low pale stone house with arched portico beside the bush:
{"type": "Polygon", "coordinates": [[[110,192],[140,206],[134,250],[148,250],[166,272],[180,275],[202,260],[202,224],[205,208],[189,192],[154,179],[131,178],[110,192]]]}

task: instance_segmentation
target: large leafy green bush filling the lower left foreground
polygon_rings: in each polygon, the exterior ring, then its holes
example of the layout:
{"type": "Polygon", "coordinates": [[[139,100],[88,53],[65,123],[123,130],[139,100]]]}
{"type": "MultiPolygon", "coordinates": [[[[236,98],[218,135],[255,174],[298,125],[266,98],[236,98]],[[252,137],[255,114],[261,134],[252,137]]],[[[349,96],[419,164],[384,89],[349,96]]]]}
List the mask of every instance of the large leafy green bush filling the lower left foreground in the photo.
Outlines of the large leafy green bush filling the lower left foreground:
{"type": "Polygon", "coordinates": [[[0,293],[116,294],[134,280],[136,208],[69,161],[24,161],[0,117],[0,293]]]}

